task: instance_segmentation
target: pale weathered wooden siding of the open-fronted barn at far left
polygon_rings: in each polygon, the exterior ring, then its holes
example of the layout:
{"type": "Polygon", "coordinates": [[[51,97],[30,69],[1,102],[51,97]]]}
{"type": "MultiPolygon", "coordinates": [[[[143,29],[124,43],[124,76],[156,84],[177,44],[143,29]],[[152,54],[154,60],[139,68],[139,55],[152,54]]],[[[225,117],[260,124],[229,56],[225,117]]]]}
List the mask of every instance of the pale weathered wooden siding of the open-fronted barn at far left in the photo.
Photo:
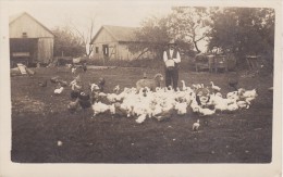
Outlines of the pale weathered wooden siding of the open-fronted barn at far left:
{"type": "MultiPolygon", "coordinates": [[[[32,45],[23,48],[24,52],[29,52],[30,62],[47,63],[53,59],[54,35],[27,13],[23,13],[9,24],[10,50],[19,52],[17,46],[21,43],[32,45]],[[25,35],[24,35],[25,34],[25,35]],[[25,41],[36,41],[36,43],[25,41]]],[[[11,53],[12,54],[12,53],[11,53]]],[[[13,58],[11,58],[13,60],[13,58]]]]}

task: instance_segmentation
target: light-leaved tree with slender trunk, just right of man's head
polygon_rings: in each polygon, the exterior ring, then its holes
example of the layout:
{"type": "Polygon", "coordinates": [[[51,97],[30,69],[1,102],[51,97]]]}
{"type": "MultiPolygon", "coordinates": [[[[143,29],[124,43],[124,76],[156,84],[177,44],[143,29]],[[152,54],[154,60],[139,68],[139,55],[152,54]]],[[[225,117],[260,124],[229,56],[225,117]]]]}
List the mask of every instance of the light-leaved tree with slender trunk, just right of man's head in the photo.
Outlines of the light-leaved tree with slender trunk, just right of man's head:
{"type": "Polygon", "coordinates": [[[199,53],[199,41],[206,40],[209,31],[209,13],[206,8],[175,7],[169,15],[170,36],[193,43],[195,50],[199,53]]]}

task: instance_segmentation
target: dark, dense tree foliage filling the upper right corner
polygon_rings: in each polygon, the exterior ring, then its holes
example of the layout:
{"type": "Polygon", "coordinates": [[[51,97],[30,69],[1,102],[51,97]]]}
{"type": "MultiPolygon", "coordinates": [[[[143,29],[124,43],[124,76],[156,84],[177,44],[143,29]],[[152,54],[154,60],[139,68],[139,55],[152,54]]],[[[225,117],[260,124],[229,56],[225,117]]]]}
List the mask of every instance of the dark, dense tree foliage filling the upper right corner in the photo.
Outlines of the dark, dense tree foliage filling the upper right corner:
{"type": "MultiPolygon", "coordinates": [[[[247,54],[270,53],[274,48],[274,10],[262,8],[212,9],[209,49],[232,51],[239,60],[247,54]]],[[[272,62],[273,63],[273,62],[272,62]]]]}

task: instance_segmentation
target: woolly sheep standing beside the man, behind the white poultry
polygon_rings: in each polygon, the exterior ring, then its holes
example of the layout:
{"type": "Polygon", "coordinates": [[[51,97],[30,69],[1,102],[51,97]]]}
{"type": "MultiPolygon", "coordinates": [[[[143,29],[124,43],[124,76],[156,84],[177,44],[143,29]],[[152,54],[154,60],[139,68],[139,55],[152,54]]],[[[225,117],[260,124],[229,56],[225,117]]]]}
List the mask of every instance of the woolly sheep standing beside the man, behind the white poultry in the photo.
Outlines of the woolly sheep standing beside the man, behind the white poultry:
{"type": "Polygon", "coordinates": [[[153,79],[143,78],[137,80],[136,89],[139,91],[142,88],[148,87],[150,90],[155,90],[160,87],[162,80],[163,76],[161,74],[157,74],[153,79]]]}

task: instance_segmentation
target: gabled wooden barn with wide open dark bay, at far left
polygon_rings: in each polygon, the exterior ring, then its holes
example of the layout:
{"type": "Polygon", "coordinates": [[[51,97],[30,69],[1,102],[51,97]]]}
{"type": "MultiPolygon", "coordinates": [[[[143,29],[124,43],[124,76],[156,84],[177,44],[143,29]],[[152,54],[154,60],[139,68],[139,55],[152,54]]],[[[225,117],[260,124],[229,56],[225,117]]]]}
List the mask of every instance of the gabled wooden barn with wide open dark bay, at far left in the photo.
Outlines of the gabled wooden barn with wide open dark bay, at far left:
{"type": "Polygon", "coordinates": [[[28,13],[10,16],[9,33],[11,66],[52,61],[54,35],[28,13]]]}

